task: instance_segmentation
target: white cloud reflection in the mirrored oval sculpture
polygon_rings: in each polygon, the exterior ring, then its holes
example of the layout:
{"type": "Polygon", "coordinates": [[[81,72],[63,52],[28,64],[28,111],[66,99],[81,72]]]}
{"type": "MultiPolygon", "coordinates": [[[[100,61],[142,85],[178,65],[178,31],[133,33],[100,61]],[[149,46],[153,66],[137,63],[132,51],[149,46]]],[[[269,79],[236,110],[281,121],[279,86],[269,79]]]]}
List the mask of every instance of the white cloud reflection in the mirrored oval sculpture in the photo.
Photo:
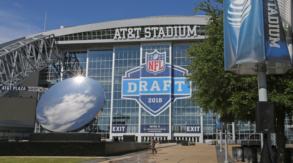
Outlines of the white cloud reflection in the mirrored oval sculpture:
{"type": "Polygon", "coordinates": [[[47,123],[42,126],[54,129],[54,131],[68,131],[71,126],[75,126],[76,123],[83,120],[84,117],[82,116],[86,115],[95,106],[96,97],[88,96],[91,94],[89,91],[86,90],[84,94],[71,93],[63,96],[62,101],[58,104],[44,106],[43,115],[37,115],[40,122],[43,119],[47,120],[47,123]]]}

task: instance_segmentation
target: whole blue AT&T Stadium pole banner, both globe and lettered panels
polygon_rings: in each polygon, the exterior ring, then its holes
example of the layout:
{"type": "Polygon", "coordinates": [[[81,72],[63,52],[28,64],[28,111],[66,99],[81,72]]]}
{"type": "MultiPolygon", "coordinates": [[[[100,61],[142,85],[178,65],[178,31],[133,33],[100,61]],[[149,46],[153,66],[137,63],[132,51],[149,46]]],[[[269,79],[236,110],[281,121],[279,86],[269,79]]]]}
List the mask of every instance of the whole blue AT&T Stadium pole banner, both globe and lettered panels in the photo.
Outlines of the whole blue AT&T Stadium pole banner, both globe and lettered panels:
{"type": "Polygon", "coordinates": [[[224,0],[225,70],[264,60],[292,64],[291,1],[224,0]],[[289,5],[288,19],[278,4],[289,5]]]}

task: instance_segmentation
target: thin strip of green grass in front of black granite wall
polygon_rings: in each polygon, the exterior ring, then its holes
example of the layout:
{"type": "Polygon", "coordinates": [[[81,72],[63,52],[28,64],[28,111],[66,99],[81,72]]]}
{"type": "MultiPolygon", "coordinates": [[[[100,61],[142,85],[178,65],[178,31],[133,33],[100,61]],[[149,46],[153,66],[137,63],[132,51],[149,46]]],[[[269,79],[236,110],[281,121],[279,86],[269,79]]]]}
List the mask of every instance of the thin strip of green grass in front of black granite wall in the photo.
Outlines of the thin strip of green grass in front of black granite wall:
{"type": "Polygon", "coordinates": [[[2,157],[0,162],[2,163],[45,163],[45,162],[82,162],[98,158],[55,158],[55,157],[2,157]]]}

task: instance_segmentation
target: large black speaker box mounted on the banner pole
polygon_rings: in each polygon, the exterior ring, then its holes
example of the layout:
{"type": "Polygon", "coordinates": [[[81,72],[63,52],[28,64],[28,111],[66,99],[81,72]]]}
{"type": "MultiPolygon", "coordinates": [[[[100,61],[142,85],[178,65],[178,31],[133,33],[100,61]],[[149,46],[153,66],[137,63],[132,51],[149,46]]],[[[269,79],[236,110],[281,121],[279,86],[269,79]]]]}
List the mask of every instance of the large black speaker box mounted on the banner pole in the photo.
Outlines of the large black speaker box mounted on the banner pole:
{"type": "Polygon", "coordinates": [[[256,133],[276,133],[276,103],[257,101],[255,103],[256,133]]]}

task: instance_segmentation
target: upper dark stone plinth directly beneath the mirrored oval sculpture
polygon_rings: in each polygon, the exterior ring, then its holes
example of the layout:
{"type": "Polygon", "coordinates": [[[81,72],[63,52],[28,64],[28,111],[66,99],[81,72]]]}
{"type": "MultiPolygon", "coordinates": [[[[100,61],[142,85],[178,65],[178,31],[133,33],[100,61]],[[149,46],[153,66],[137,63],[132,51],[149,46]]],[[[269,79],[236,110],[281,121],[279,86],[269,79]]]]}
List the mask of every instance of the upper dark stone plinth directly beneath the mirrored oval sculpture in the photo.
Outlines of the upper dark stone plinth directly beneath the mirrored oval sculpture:
{"type": "Polygon", "coordinates": [[[100,133],[30,133],[29,141],[101,141],[100,133]]]}

